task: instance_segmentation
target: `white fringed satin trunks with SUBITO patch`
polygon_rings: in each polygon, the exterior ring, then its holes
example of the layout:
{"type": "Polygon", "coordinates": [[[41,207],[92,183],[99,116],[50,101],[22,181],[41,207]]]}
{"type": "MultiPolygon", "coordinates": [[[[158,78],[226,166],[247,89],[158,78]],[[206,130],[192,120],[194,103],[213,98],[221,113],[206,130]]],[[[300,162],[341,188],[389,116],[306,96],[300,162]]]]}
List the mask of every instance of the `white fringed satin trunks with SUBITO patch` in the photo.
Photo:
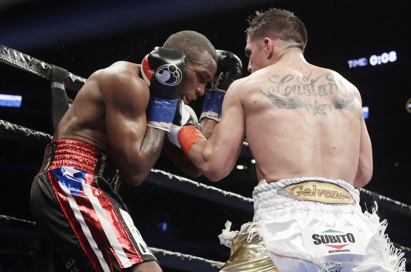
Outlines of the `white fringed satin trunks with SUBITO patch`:
{"type": "Polygon", "coordinates": [[[268,252],[280,272],[405,271],[404,253],[384,234],[386,220],[379,222],[375,210],[362,213],[359,191],[345,181],[262,180],[253,199],[249,240],[262,238],[258,254],[268,252]]]}

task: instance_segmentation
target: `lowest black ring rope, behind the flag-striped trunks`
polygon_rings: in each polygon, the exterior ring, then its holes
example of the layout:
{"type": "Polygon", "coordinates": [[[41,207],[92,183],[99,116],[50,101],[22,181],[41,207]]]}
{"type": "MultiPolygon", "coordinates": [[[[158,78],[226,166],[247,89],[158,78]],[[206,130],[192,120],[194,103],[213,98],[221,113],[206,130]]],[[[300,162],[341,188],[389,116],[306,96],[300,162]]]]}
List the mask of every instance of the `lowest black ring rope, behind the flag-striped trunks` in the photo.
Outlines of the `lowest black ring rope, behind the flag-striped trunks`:
{"type": "MultiPolygon", "coordinates": [[[[36,228],[36,223],[13,218],[7,215],[0,215],[0,236],[1,233],[7,233],[7,236],[15,234],[30,236],[31,238],[43,237],[42,233],[36,228]],[[12,231],[12,232],[10,232],[12,231]]],[[[219,268],[211,264],[224,265],[222,262],[212,261],[205,258],[173,252],[165,249],[150,247],[151,252],[157,258],[157,261],[165,267],[174,269],[183,269],[185,271],[219,271],[219,268]]]]}

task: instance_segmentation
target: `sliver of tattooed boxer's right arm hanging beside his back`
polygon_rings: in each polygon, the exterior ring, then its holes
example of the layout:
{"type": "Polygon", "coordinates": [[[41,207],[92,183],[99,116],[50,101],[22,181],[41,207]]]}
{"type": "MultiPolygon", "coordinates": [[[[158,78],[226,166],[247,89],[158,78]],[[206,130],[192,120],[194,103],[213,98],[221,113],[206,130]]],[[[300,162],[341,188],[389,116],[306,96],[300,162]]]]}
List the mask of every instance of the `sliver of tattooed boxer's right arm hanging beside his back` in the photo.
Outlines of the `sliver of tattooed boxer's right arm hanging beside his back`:
{"type": "Polygon", "coordinates": [[[357,174],[354,179],[354,187],[361,188],[365,186],[372,177],[372,148],[371,140],[368,135],[365,120],[361,120],[361,138],[360,138],[360,158],[358,160],[357,174]]]}

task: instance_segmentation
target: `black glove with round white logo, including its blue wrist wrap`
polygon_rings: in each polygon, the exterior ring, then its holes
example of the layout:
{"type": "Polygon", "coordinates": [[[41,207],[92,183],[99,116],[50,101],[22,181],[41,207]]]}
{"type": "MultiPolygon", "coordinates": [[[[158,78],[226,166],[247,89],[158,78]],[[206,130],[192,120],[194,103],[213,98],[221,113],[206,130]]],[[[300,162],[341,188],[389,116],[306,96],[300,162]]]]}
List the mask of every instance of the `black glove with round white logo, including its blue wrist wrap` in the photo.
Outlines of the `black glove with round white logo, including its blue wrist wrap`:
{"type": "Polygon", "coordinates": [[[176,50],[155,47],[144,57],[141,73],[150,88],[147,125],[170,131],[185,75],[185,56],[176,50]]]}

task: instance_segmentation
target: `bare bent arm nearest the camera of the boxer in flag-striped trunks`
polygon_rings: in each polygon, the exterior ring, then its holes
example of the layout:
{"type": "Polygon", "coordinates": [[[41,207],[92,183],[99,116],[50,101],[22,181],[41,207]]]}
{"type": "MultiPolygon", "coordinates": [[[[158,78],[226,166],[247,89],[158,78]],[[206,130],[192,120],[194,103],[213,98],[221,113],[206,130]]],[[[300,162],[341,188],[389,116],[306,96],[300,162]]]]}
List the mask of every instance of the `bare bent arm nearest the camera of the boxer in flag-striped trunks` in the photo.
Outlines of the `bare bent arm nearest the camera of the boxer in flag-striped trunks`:
{"type": "Polygon", "coordinates": [[[146,125],[145,109],[150,92],[135,71],[118,69],[101,73],[99,85],[106,106],[111,150],[121,175],[129,184],[138,186],[157,161],[165,133],[146,125]]]}

